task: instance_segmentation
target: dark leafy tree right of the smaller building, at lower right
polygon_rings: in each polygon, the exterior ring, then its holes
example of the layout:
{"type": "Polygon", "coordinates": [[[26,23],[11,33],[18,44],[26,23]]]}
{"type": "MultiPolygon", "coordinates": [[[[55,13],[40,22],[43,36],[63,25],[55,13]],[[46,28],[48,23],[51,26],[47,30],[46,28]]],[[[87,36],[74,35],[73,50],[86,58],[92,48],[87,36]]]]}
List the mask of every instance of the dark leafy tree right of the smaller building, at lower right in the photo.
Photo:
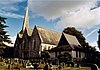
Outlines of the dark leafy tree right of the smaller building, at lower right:
{"type": "Polygon", "coordinates": [[[86,57],[84,60],[85,63],[94,63],[94,64],[100,64],[100,55],[99,52],[96,51],[95,47],[89,46],[89,44],[86,44],[85,47],[86,57]]]}

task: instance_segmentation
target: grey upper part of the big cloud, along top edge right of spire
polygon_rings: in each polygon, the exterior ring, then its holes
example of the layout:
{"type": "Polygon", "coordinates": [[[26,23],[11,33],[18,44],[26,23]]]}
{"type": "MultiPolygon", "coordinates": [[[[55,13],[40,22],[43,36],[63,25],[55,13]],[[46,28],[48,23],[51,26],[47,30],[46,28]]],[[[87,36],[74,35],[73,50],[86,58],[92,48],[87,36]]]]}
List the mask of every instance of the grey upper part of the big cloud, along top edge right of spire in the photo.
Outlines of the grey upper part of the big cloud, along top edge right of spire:
{"type": "MultiPolygon", "coordinates": [[[[46,19],[55,19],[80,7],[93,5],[95,0],[29,0],[30,11],[46,19]]],[[[34,15],[34,14],[33,14],[34,15]]]]}

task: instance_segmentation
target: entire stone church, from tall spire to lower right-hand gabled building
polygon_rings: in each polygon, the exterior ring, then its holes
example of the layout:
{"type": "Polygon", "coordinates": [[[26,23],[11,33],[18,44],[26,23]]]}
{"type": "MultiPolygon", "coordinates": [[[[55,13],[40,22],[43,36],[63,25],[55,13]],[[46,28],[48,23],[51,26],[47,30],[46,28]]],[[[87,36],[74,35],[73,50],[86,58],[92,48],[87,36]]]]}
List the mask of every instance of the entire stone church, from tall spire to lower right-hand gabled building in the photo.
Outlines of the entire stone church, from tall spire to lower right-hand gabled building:
{"type": "MultiPolygon", "coordinates": [[[[72,56],[83,58],[84,53],[80,49],[81,45],[77,38],[72,35],[55,32],[53,30],[45,29],[35,26],[34,29],[28,26],[28,7],[22,25],[22,29],[17,33],[16,41],[14,44],[14,57],[22,59],[38,58],[41,52],[45,50],[59,49],[57,52],[62,53],[65,51],[71,52],[72,56]],[[60,51],[60,52],[59,52],[60,51]],[[78,51],[78,52],[77,52],[78,51]],[[78,53],[78,54],[77,54],[78,53]]],[[[57,53],[56,52],[56,53],[57,53]]],[[[56,57],[55,51],[50,52],[50,55],[56,57]]]]}

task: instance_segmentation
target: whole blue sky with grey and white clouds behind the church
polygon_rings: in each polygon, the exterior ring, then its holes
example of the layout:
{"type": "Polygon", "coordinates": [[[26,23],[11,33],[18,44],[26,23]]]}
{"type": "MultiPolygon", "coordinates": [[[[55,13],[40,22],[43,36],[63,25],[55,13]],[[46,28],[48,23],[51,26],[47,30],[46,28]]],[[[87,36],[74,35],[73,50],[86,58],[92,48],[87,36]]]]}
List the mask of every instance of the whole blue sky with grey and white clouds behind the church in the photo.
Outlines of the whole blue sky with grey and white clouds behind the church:
{"type": "MultiPolygon", "coordinates": [[[[0,16],[7,17],[6,30],[15,42],[21,30],[27,0],[0,0],[0,16]]],[[[100,0],[28,0],[29,25],[62,32],[66,27],[82,31],[92,46],[97,46],[100,28],[100,0]]]]}

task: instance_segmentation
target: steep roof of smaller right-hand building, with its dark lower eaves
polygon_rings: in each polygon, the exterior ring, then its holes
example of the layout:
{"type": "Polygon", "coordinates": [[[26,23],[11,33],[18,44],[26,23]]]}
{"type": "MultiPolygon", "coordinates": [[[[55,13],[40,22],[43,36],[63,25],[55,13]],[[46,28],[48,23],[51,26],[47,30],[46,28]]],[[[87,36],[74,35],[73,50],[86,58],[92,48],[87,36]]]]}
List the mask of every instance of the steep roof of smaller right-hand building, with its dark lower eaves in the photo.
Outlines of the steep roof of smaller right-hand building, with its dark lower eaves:
{"type": "Polygon", "coordinates": [[[58,45],[57,47],[49,50],[50,52],[52,52],[52,51],[54,51],[54,52],[55,51],[70,51],[70,50],[81,50],[81,51],[83,51],[84,48],[81,46],[81,44],[79,43],[79,41],[77,40],[77,38],[75,36],[65,34],[65,33],[62,33],[62,35],[64,35],[68,44],[61,45],[61,46],[58,45]]]}

